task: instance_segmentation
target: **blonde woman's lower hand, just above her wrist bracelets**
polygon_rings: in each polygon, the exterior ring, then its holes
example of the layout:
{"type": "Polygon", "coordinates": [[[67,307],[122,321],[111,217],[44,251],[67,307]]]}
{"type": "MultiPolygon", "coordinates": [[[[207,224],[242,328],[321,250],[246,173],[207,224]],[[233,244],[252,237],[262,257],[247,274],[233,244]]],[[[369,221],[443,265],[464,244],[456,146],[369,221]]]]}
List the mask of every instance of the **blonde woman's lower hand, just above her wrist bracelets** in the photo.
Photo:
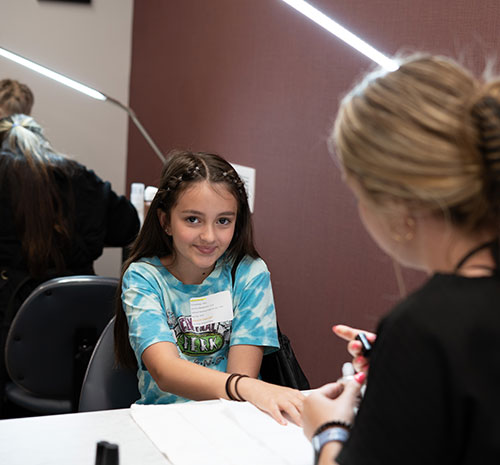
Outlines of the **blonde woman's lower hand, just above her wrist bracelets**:
{"type": "Polygon", "coordinates": [[[329,421],[352,424],[354,407],[359,402],[359,391],[365,377],[364,373],[358,373],[355,380],[325,384],[307,396],[302,410],[302,424],[309,440],[321,425],[329,421]]]}

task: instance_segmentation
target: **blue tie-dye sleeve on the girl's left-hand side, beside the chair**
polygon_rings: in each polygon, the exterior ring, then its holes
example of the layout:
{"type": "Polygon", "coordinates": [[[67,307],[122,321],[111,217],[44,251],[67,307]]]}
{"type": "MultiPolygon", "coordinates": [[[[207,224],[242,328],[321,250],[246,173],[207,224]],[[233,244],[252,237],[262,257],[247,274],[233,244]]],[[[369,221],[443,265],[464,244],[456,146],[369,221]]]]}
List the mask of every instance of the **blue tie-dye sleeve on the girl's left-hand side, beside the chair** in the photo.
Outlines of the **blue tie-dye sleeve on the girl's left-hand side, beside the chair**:
{"type": "Polygon", "coordinates": [[[129,340],[137,361],[145,349],[157,342],[172,342],[175,336],[168,326],[161,288],[146,266],[131,264],[123,276],[122,303],[129,326],[129,340]]]}

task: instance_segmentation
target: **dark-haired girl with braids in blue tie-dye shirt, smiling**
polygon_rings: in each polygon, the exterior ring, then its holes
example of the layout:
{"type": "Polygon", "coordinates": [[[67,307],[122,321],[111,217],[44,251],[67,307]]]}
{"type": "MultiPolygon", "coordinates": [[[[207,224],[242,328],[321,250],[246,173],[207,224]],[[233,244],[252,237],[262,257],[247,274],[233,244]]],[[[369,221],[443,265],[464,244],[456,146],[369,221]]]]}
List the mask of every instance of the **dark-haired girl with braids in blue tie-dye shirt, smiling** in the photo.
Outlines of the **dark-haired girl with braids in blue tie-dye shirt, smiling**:
{"type": "Polygon", "coordinates": [[[138,403],[247,400],[299,423],[303,394],[257,379],[263,354],[278,347],[243,182],[218,155],[173,152],[124,265],[116,311],[116,358],[137,367],[138,403]]]}

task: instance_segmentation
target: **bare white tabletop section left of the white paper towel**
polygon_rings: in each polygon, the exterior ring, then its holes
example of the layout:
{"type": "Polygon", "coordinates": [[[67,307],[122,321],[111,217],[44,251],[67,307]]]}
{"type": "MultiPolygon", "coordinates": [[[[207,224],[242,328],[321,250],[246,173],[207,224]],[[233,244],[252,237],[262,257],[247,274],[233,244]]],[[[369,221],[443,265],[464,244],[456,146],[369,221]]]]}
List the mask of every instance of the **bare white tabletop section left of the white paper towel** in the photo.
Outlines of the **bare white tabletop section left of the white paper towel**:
{"type": "Polygon", "coordinates": [[[119,445],[120,465],[170,465],[129,409],[0,421],[1,465],[94,465],[96,444],[119,445]]]}

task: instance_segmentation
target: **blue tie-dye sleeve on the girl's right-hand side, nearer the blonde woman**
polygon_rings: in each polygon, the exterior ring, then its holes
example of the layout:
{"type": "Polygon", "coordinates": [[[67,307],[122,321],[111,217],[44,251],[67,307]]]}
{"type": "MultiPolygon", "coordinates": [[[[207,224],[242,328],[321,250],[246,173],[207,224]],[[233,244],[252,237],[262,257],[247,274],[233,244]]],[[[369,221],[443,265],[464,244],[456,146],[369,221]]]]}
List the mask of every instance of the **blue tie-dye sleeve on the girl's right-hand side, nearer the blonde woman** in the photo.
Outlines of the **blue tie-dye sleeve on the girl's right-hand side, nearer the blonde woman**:
{"type": "Polygon", "coordinates": [[[230,345],[249,344],[279,348],[271,277],[262,260],[238,269],[230,345]]]}

